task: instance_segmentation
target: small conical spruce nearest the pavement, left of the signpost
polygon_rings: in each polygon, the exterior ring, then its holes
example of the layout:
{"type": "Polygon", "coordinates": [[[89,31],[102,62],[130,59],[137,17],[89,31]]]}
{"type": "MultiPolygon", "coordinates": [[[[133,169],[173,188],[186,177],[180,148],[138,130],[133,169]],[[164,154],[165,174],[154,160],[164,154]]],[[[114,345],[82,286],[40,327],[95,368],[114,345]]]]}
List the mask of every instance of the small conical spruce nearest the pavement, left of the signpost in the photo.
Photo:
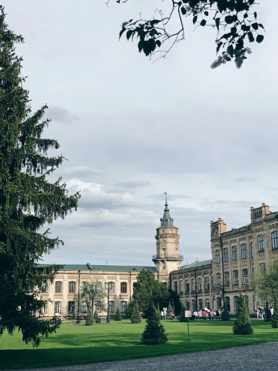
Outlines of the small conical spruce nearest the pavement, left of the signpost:
{"type": "Polygon", "coordinates": [[[145,331],[142,334],[141,342],[145,345],[166,344],[168,341],[164,326],[160,323],[160,318],[153,304],[149,308],[149,317],[145,331]]]}

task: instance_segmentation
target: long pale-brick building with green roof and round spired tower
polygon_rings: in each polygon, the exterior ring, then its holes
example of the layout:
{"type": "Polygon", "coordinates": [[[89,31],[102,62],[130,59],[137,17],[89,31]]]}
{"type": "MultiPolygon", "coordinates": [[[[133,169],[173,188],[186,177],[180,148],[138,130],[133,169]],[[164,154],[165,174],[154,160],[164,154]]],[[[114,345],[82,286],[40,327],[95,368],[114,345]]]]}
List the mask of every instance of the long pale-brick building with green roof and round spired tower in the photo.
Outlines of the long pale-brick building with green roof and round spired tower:
{"type": "MultiPolygon", "coordinates": [[[[186,309],[221,307],[224,301],[233,314],[237,310],[240,291],[246,295],[249,312],[253,313],[261,304],[251,286],[252,275],[263,273],[265,264],[278,257],[278,212],[269,211],[264,203],[251,207],[251,222],[241,228],[226,230],[219,218],[211,221],[212,260],[194,262],[181,266],[183,256],[179,254],[179,229],[174,226],[166,199],[164,216],[157,228],[157,254],[153,256],[155,267],[151,269],[157,278],[179,293],[186,309]]],[[[117,308],[125,312],[132,300],[133,283],[141,266],[96,266],[65,265],[59,271],[53,285],[41,288],[41,296],[49,299],[45,316],[55,313],[62,316],[77,313],[78,292],[83,282],[92,278],[103,286],[110,282],[109,311],[113,315],[117,308]]],[[[86,313],[86,302],[80,300],[80,313],[86,313]]],[[[105,312],[99,312],[105,316],[105,312]]]]}

